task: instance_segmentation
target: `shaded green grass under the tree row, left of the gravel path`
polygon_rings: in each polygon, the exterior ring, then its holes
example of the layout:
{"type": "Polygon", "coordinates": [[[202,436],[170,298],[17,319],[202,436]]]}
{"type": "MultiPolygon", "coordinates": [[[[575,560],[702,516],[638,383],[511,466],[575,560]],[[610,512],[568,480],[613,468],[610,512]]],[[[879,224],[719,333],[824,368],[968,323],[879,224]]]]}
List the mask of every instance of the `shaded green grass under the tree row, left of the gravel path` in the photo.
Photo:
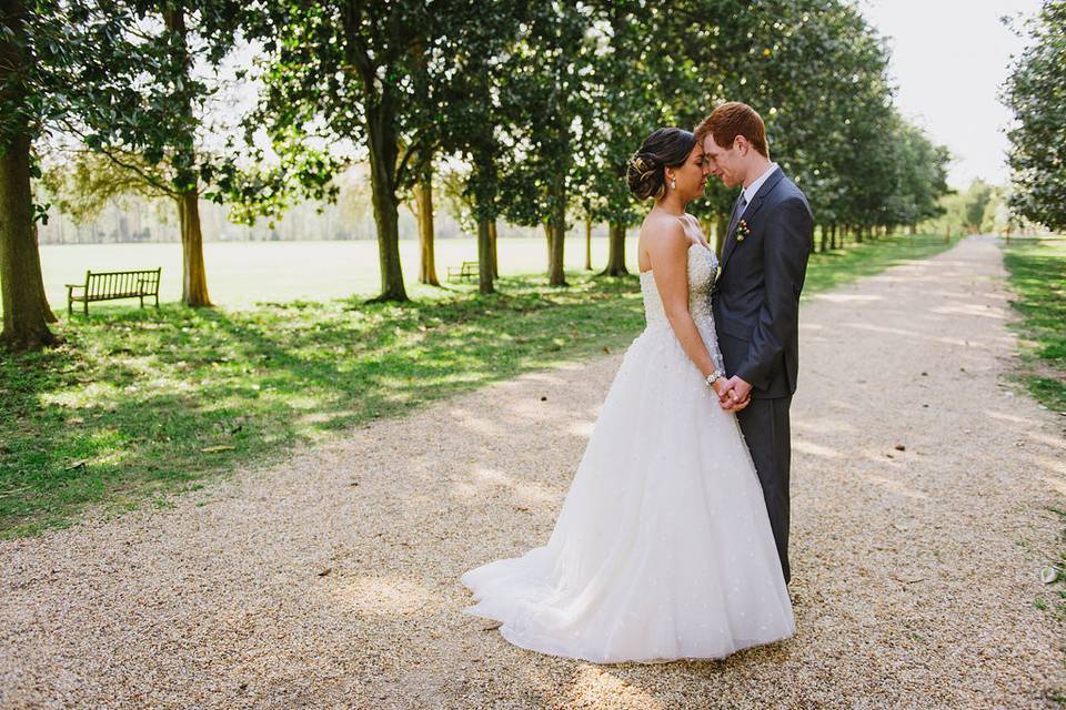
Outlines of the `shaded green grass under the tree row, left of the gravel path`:
{"type": "MultiPolygon", "coordinates": [[[[243,245],[249,287],[274,278],[261,246],[243,245]]],[[[947,247],[943,237],[895,237],[815,254],[805,293],[947,247]]],[[[294,254],[282,253],[274,268],[291,274],[294,254]]],[[[322,293],[332,293],[332,278],[323,277],[322,293]]],[[[63,347],[0,358],[0,536],[67,525],[91,504],[104,504],[105,514],[167,506],[168,494],[237,465],[263,465],[299,442],[625,347],[643,327],[635,276],[569,278],[571,287],[559,290],[539,275],[510,275],[489,297],[469,286],[421,287],[403,307],[364,304],[372,286],[313,301],[257,291],[265,296],[259,303],[202,311],[97,304],[88,318],[63,317],[63,347]]]]}

